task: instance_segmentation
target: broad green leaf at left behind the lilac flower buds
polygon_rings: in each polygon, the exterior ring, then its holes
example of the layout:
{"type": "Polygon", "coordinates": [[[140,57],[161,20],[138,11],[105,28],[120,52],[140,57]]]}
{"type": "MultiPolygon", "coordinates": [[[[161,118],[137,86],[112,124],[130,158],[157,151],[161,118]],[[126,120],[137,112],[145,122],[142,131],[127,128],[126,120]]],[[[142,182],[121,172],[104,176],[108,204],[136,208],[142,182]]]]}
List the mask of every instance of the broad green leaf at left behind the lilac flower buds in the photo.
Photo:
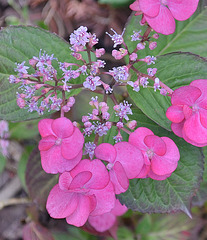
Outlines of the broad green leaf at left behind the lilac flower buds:
{"type": "MultiPolygon", "coordinates": [[[[54,54],[60,62],[75,62],[70,55],[69,45],[57,35],[37,27],[11,26],[0,31],[0,46],[0,119],[22,121],[38,118],[37,113],[29,113],[17,106],[18,85],[10,84],[8,77],[16,74],[15,63],[26,61],[28,65],[29,59],[39,56],[40,49],[54,54]]],[[[57,66],[58,63],[55,63],[54,67],[57,66]]],[[[58,77],[61,77],[60,74],[58,72],[58,77]]],[[[81,81],[81,78],[76,79],[76,83],[81,81]]],[[[79,92],[79,89],[75,89],[70,95],[79,92]]]]}

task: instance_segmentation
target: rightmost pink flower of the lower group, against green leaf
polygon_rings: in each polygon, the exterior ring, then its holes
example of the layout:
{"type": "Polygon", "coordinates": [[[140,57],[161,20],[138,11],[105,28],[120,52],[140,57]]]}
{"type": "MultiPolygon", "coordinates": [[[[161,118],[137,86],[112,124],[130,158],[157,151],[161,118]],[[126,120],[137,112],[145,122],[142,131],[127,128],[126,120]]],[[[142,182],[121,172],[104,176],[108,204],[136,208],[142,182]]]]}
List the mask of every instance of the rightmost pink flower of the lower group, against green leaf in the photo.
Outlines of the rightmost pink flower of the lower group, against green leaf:
{"type": "Polygon", "coordinates": [[[130,134],[129,143],[144,155],[144,166],[138,178],[164,180],[177,168],[180,153],[170,138],[155,136],[150,129],[140,127],[130,134]]]}

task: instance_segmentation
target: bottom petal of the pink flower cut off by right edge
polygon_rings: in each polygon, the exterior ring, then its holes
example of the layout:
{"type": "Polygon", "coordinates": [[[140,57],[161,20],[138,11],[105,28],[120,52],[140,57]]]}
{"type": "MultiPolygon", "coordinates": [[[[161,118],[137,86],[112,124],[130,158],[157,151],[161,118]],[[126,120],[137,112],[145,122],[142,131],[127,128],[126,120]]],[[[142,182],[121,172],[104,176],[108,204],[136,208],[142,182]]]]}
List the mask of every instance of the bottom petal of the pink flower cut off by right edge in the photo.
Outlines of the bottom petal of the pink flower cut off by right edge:
{"type": "Polygon", "coordinates": [[[201,124],[199,113],[185,121],[183,131],[191,141],[198,144],[207,143],[207,128],[201,124]]]}

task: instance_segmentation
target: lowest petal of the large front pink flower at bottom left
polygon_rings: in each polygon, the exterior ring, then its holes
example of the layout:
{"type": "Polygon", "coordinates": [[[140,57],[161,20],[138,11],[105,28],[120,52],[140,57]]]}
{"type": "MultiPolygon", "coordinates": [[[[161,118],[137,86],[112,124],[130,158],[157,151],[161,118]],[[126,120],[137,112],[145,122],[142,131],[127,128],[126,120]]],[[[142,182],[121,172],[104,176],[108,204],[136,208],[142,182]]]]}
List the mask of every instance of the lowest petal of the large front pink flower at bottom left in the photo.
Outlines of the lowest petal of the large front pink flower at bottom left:
{"type": "Polygon", "coordinates": [[[83,226],[95,207],[96,200],[94,196],[79,195],[76,211],[74,211],[70,216],[66,217],[67,223],[76,227],[83,226]]]}

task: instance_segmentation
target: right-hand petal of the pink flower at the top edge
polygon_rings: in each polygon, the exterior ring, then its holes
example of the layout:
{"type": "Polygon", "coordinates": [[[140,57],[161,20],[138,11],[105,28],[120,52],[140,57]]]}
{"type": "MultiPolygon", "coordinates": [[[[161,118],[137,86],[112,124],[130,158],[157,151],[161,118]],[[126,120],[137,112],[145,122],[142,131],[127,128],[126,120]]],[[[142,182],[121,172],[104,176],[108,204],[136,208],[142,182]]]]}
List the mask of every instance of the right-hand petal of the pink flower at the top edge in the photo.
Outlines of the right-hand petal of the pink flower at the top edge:
{"type": "Polygon", "coordinates": [[[184,21],[191,17],[198,7],[199,0],[168,0],[168,7],[173,17],[184,21]]]}

